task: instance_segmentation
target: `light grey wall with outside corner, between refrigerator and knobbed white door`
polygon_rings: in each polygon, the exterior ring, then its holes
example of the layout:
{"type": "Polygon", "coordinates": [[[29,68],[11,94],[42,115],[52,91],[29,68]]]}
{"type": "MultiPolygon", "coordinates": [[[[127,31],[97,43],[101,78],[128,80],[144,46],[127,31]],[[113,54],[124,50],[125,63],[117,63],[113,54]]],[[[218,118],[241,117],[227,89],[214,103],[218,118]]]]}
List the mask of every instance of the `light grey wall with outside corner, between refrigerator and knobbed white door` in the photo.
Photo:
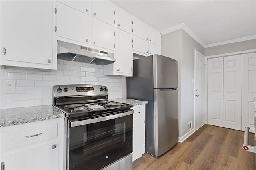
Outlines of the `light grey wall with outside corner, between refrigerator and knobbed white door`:
{"type": "MultiPolygon", "coordinates": [[[[162,35],[162,55],[178,61],[178,109],[179,136],[186,134],[187,123],[194,122],[194,50],[204,54],[204,47],[184,30],[176,30],[162,35]]],[[[194,125],[194,123],[193,123],[194,125]]]]}

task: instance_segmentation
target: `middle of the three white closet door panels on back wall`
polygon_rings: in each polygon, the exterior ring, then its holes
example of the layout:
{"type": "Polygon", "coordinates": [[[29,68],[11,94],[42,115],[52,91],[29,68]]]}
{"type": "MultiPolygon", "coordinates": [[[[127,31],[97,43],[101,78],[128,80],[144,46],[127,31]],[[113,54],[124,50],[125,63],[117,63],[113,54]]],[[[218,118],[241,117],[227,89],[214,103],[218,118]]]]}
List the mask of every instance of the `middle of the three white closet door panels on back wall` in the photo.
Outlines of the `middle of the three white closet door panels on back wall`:
{"type": "Polygon", "coordinates": [[[241,130],[242,55],[223,59],[223,127],[241,130]]]}

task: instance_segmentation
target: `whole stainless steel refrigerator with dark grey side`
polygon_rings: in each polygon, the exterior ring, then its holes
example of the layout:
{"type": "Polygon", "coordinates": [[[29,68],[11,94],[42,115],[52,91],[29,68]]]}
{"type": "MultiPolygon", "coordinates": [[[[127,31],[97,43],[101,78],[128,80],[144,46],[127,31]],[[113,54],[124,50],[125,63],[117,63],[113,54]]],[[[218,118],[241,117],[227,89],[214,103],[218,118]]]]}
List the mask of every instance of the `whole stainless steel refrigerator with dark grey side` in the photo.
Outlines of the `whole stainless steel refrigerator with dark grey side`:
{"type": "Polygon", "coordinates": [[[158,158],[178,142],[177,61],[162,55],[136,59],[126,82],[128,99],[148,101],[145,151],[158,158]]]}

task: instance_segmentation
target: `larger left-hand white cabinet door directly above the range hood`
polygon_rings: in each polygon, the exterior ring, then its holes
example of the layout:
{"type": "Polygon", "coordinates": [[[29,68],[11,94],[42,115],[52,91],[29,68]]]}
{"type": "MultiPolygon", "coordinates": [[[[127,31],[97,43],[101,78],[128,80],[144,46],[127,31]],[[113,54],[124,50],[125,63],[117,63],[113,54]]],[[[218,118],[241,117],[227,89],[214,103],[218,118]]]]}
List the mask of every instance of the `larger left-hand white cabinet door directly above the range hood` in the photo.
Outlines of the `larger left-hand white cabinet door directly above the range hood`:
{"type": "Polygon", "coordinates": [[[90,42],[90,16],[61,3],[57,4],[56,15],[57,36],[83,43],[90,42]]]}

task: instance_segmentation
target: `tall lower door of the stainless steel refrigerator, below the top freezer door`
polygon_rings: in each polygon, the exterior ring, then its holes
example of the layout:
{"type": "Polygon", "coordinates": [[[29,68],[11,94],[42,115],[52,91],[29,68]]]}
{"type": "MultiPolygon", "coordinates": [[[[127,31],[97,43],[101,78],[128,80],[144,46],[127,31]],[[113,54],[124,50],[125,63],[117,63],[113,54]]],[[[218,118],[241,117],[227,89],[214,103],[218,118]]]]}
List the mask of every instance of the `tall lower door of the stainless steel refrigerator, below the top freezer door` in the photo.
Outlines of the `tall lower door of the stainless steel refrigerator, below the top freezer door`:
{"type": "Polygon", "coordinates": [[[155,156],[178,142],[178,89],[154,89],[155,156]]]}

